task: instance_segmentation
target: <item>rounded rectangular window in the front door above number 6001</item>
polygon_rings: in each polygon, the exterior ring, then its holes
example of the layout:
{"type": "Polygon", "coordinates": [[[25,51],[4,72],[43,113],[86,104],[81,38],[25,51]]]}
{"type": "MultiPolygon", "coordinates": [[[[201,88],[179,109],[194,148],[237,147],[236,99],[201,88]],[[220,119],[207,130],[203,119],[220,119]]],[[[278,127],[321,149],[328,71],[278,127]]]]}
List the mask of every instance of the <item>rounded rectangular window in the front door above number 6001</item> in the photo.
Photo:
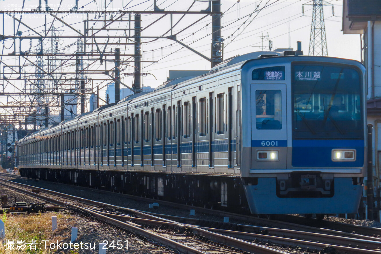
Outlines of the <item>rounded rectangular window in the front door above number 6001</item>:
{"type": "Polygon", "coordinates": [[[257,129],[282,129],[280,90],[255,91],[257,129]]]}

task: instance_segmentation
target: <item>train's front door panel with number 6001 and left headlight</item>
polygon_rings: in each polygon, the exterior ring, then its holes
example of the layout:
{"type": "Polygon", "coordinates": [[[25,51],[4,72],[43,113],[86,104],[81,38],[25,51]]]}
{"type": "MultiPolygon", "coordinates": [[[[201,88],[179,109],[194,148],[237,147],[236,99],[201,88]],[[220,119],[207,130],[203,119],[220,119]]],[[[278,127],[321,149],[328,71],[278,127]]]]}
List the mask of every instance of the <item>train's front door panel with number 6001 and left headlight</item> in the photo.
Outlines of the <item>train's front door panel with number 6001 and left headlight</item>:
{"type": "Polygon", "coordinates": [[[252,170],[286,168],[286,105],[285,84],[251,85],[252,170]]]}

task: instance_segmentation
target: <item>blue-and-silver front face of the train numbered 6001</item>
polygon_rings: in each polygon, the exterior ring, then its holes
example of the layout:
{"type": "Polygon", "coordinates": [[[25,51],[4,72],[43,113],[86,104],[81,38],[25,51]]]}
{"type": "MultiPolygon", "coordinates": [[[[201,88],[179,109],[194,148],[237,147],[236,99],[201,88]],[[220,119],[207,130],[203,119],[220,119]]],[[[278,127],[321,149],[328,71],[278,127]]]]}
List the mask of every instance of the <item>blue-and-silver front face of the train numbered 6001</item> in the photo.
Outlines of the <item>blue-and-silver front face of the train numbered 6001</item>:
{"type": "Polygon", "coordinates": [[[366,165],[363,66],[282,58],[242,69],[242,104],[251,105],[243,110],[241,167],[250,210],[355,213],[366,165]]]}

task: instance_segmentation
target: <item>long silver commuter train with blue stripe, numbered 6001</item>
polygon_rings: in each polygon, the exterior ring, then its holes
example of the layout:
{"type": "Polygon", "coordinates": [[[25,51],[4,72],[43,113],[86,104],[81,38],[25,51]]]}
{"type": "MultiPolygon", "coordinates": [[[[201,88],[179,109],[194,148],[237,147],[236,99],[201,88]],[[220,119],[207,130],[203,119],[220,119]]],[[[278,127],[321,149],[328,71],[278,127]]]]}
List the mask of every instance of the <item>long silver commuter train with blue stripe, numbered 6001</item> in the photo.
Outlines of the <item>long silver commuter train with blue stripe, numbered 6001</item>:
{"type": "Polygon", "coordinates": [[[355,213],[366,176],[365,68],[249,53],[17,144],[22,176],[252,214],[355,213]]]}

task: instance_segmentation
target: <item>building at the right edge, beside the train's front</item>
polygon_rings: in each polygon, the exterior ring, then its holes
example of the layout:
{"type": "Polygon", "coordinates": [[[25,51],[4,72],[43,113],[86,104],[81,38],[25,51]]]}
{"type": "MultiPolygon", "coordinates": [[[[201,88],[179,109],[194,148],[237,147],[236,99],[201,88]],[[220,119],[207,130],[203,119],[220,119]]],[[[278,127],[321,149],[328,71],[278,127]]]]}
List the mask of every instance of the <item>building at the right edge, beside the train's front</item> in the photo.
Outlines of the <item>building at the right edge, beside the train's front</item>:
{"type": "Polygon", "coordinates": [[[381,188],[381,1],[344,0],[344,34],[359,34],[362,63],[367,69],[368,123],[373,127],[373,186],[381,188]]]}

